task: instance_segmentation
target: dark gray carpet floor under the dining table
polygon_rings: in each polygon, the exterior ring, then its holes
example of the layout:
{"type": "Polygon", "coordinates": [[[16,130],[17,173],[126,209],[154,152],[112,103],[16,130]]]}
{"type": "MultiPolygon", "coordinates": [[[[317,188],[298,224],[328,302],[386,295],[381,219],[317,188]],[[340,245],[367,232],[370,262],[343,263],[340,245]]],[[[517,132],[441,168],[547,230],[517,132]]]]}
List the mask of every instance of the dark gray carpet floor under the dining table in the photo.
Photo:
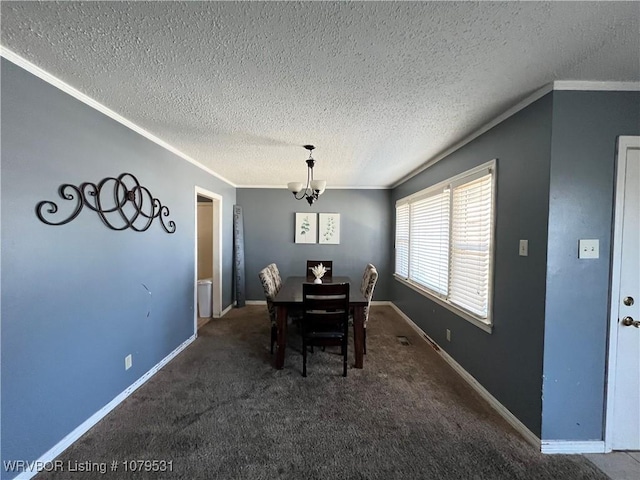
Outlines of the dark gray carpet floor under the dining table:
{"type": "MultiPolygon", "coordinates": [[[[289,330],[269,353],[266,307],[234,309],[58,460],[172,461],[171,472],[42,472],[45,479],[598,479],[580,455],[542,455],[388,306],[372,307],[364,369],[309,355],[289,330]],[[402,344],[398,336],[408,339],[402,344]]],[[[353,365],[350,347],[349,364],[353,365]]]]}

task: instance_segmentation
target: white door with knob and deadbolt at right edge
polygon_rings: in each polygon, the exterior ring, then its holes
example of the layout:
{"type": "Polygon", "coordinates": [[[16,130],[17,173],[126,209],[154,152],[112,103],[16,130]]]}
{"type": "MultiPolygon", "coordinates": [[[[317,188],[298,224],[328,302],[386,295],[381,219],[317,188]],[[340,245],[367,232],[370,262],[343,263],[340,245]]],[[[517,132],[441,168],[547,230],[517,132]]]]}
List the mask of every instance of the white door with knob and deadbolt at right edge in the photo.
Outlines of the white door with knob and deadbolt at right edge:
{"type": "Polygon", "coordinates": [[[640,137],[618,141],[607,444],[640,450],[640,137]]]}

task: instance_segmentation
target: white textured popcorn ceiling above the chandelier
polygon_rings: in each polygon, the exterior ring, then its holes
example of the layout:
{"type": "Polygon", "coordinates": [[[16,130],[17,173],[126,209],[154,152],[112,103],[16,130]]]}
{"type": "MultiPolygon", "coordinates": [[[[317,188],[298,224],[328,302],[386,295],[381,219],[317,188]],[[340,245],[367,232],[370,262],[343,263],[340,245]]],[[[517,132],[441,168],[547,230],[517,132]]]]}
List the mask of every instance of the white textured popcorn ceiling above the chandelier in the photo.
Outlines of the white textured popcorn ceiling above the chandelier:
{"type": "Polygon", "coordinates": [[[1,2],[2,46],[237,186],[388,187],[555,80],[640,81],[638,2],[1,2]]]}

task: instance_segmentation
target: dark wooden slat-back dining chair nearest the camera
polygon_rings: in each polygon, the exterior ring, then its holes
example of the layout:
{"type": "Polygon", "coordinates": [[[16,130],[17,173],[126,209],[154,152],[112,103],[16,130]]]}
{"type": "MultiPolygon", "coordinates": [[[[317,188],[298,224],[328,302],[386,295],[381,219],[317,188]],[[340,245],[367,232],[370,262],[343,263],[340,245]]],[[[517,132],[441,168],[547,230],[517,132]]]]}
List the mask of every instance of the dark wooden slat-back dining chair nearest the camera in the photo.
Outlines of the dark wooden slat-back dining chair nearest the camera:
{"type": "Polygon", "coordinates": [[[302,376],[307,376],[307,347],[340,346],[342,376],[347,376],[349,284],[302,285],[302,376]]]}

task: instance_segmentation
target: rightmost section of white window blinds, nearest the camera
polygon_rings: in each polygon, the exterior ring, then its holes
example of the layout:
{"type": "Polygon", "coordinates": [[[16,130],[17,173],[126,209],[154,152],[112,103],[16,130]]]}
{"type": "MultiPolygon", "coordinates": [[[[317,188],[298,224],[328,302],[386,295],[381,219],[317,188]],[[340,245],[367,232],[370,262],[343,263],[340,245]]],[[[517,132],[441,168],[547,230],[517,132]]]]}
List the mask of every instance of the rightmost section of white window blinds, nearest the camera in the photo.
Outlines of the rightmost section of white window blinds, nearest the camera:
{"type": "Polygon", "coordinates": [[[453,188],[449,300],[487,318],[492,233],[491,174],[453,188]]]}

